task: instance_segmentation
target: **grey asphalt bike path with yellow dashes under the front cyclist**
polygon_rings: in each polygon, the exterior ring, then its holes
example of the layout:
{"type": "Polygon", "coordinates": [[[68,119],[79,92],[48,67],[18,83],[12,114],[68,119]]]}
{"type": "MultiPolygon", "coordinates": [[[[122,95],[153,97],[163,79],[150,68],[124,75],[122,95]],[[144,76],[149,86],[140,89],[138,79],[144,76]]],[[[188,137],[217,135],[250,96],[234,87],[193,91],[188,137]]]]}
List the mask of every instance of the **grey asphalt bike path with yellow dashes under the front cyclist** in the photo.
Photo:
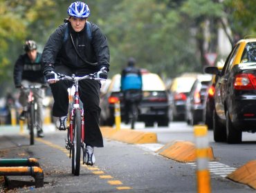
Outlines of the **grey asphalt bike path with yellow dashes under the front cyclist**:
{"type": "MultiPolygon", "coordinates": [[[[81,167],[80,176],[71,174],[71,159],[64,148],[64,132],[47,135],[44,141],[30,146],[28,139],[17,136],[12,139],[18,148],[12,147],[14,157],[34,156],[44,170],[44,187],[36,192],[116,192],[118,187],[129,187],[127,192],[196,192],[196,176],[193,167],[178,163],[154,152],[145,152],[138,145],[104,140],[104,148],[95,148],[97,170],[81,167]],[[16,153],[15,153],[16,152],[16,153]],[[93,172],[104,172],[95,174],[93,172]],[[112,179],[101,179],[100,176],[112,179]],[[120,181],[121,185],[109,185],[120,181]]],[[[25,176],[19,176],[24,179],[25,176]]],[[[25,178],[27,179],[27,178],[25,178]]],[[[245,185],[214,176],[212,190],[216,192],[251,192],[245,185]]]]}

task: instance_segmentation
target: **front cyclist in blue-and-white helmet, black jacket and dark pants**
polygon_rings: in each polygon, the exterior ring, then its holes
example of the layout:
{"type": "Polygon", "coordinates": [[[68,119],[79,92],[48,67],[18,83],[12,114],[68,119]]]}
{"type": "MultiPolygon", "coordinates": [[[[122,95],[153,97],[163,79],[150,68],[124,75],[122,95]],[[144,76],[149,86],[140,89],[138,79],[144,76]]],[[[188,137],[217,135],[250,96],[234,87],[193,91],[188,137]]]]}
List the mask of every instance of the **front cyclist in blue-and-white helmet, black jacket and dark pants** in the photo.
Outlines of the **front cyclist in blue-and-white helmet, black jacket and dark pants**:
{"type": "MultiPolygon", "coordinates": [[[[43,51],[44,74],[53,92],[53,116],[59,130],[66,130],[68,92],[71,82],[56,81],[57,72],[82,77],[98,72],[107,79],[109,71],[109,46],[100,28],[87,21],[90,16],[86,3],[76,1],[68,7],[68,23],[59,26],[49,37],[43,51]],[[66,28],[68,37],[64,40],[66,28]],[[86,28],[91,28],[91,40],[86,28]]],[[[93,147],[103,147],[100,119],[100,82],[80,81],[80,99],[84,105],[86,165],[95,163],[93,147]]]]}

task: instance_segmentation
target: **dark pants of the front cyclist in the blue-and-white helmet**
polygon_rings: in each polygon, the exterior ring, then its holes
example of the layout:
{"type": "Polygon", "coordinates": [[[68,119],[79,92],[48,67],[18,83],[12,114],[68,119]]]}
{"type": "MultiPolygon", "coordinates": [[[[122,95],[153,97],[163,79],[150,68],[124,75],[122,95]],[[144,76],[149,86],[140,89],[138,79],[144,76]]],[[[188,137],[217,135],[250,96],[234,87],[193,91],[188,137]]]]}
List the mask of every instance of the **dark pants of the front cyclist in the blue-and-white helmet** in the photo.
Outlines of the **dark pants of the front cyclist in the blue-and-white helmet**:
{"type": "MultiPolygon", "coordinates": [[[[71,71],[64,66],[56,66],[55,72],[78,77],[86,73],[82,70],[71,71]]],[[[71,88],[71,81],[57,81],[51,84],[53,92],[53,116],[66,116],[68,114],[68,88],[71,88]]],[[[94,147],[103,147],[102,134],[100,132],[100,82],[90,79],[84,79],[79,82],[80,99],[84,105],[84,143],[94,147]]]]}

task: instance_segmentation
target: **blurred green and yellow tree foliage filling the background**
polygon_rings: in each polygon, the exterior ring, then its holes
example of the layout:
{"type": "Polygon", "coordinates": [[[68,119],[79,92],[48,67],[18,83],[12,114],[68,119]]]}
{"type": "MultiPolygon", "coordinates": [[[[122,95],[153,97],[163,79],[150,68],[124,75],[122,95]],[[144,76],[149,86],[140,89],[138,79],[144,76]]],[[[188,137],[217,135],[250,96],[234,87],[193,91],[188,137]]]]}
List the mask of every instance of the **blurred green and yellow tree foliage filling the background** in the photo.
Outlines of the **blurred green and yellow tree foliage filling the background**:
{"type": "MultiPolygon", "coordinates": [[[[0,0],[0,83],[12,83],[13,65],[25,39],[42,51],[49,35],[63,23],[71,1],[0,0]],[[14,14],[15,13],[15,14],[14,14]]],[[[202,72],[204,52],[217,52],[219,21],[232,36],[255,34],[256,1],[246,0],[87,0],[89,20],[106,34],[111,51],[110,76],[129,57],[138,66],[165,77],[202,72]],[[205,28],[209,24],[208,36],[205,28]],[[223,24],[223,22],[222,22],[223,24]],[[225,24],[225,23],[224,23],[225,24]],[[228,30],[227,30],[228,31],[228,30]],[[208,48],[205,48],[208,45],[208,48]]]]}

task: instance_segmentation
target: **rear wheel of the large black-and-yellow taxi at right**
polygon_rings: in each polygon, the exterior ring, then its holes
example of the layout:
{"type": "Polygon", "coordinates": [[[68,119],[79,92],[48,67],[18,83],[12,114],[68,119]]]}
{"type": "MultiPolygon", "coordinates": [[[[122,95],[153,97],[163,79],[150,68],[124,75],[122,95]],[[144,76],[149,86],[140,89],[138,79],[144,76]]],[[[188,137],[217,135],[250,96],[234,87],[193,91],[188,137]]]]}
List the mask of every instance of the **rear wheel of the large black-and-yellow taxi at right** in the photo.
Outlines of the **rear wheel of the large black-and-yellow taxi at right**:
{"type": "Polygon", "coordinates": [[[241,143],[241,131],[236,130],[232,124],[228,111],[226,112],[226,136],[228,143],[241,143]]]}

